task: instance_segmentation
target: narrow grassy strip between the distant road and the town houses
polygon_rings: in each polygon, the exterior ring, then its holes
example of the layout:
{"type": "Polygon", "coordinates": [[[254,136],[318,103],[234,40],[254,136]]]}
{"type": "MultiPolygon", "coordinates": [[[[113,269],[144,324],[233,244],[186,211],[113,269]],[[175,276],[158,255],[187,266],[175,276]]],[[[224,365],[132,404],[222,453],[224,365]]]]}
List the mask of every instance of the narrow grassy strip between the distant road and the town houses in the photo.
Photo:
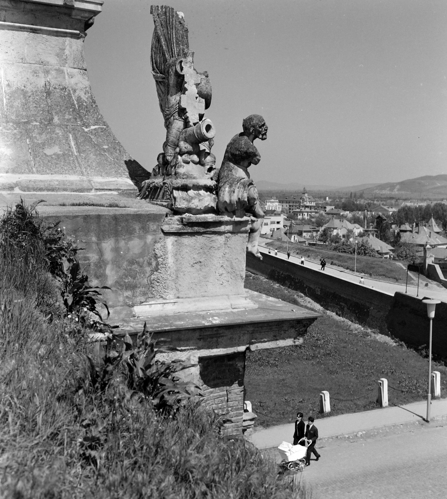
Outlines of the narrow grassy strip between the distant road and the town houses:
{"type": "MultiPolygon", "coordinates": [[[[267,245],[269,248],[276,248],[278,251],[286,252],[287,244],[282,241],[272,241],[269,239],[261,239],[260,241],[262,245],[267,245]]],[[[407,271],[397,262],[389,259],[357,255],[357,263],[355,265],[355,256],[353,254],[337,253],[298,243],[289,243],[289,250],[292,254],[303,255],[305,258],[317,263],[324,257],[327,265],[336,265],[352,272],[354,272],[355,266],[358,274],[370,275],[381,280],[405,283],[407,278],[407,271]]],[[[404,264],[407,263],[404,262],[404,264]]]]}

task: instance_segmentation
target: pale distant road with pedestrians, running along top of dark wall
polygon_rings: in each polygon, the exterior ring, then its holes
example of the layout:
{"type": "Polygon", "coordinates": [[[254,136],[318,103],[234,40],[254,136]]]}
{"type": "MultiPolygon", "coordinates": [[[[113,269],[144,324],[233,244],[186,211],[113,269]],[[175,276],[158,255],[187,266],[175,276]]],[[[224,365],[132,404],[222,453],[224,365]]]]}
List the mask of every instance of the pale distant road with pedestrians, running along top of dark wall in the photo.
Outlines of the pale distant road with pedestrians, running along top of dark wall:
{"type": "MultiPolygon", "coordinates": [[[[259,246],[259,251],[261,253],[268,253],[268,248],[264,246],[259,246]]],[[[274,256],[274,250],[271,250],[271,255],[274,256]]],[[[283,260],[287,259],[287,254],[283,253],[282,251],[278,251],[278,254],[276,255],[276,258],[281,258],[283,260]]],[[[290,255],[289,261],[300,265],[300,258],[297,256],[290,255]]],[[[310,261],[306,258],[304,258],[304,264],[306,267],[312,268],[313,270],[316,270],[318,272],[323,272],[321,270],[321,265],[318,263],[315,263],[313,261],[310,261]]],[[[334,267],[332,265],[326,265],[326,268],[324,270],[325,273],[333,275],[339,279],[344,279],[347,281],[355,282],[359,286],[365,285],[369,287],[373,287],[379,291],[382,291],[383,293],[390,294],[394,296],[394,293],[397,291],[401,293],[405,293],[405,284],[400,284],[400,283],[395,283],[395,282],[388,282],[388,281],[381,281],[378,279],[372,279],[369,277],[364,276],[365,284],[359,284],[360,280],[360,274],[358,273],[357,275],[348,271],[341,269],[340,267],[334,267]]],[[[410,282],[410,278],[409,278],[410,282]]],[[[417,286],[414,285],[408,285],[408,294],[411,296],[416,296],[417,295],[417,286]]],[[[429,284],[429,287],[425,287],[424,285],[419,286],[419,297],[422,298],[424,296],[429,296],[430,298],[437,298],[441,301],[444,301],[447,303],[447,289],[446,288],[440,288],[438,287],[435,283],[429,284]]]]}

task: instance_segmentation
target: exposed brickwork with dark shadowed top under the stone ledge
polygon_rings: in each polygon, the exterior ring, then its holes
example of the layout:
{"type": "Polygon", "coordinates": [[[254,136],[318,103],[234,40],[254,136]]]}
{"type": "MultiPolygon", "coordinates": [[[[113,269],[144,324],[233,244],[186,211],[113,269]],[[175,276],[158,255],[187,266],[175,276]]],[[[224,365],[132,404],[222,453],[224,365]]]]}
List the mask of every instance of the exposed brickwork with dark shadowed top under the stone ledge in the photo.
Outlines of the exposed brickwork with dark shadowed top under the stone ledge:
{"type": "Polygon", "coordinates": [[[224,435],[242,436],[245,352],[199,357],[203,405],[220,416],[224,435]]]}

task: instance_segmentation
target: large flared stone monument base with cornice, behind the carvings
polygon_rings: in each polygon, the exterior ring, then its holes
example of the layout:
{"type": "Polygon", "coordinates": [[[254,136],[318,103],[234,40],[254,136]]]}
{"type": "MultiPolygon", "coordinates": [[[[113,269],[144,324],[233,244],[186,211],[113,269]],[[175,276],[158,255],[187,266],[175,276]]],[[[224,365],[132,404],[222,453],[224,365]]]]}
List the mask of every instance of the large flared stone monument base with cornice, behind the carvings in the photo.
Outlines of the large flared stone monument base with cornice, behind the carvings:
{"type": "Polygon", "coordinates": [[[136,194],[149,177],[90,87],[85,31],[102,3],[0,0],[0,191],[136,194]]]}

